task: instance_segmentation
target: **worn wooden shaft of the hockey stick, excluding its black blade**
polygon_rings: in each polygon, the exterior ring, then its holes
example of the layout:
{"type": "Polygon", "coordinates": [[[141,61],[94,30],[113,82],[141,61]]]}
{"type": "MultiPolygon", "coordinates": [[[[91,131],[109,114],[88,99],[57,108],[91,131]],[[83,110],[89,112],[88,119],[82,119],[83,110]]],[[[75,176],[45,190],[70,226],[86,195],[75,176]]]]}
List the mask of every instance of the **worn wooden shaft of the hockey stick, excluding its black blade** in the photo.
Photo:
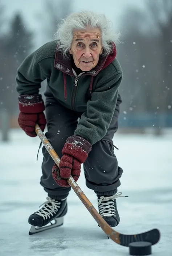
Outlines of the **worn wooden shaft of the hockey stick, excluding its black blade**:
{"type": "MultiPolygon", "coordinates": [[[[35,126],[35,131],[38,137],[41,139],[41,142],[45,146],[46,150],[50,154],[50,156],[53,158],[54,162],[59,166],[60,158],[58,157],[57,153],[53,149],[52,145],[40,129],[38,125],[35,126]]],[[[67,180],[71,188],[73,188],[74,192],[77,194],[79,199],[82,201],[82,203],[85,205],[87,210],[90,212],[90,214],[93,216],[93,218],[96,220],[98,225],[102,228],[102,230],[106,233],[108,237],[110,237],[115,243],[120,244],[119,239],[119,233],[116,232],[114,229],[110,227],[110,225],[107,224],[107,222],[102,218],[102,216],[98,213],[98,211],[94,208],[93,204],[89,201],[89,199],[86,197],[86,195],[83,193],[81,188],[78,186],[78,184],[75,182],[72,176],[67,180]]]]}

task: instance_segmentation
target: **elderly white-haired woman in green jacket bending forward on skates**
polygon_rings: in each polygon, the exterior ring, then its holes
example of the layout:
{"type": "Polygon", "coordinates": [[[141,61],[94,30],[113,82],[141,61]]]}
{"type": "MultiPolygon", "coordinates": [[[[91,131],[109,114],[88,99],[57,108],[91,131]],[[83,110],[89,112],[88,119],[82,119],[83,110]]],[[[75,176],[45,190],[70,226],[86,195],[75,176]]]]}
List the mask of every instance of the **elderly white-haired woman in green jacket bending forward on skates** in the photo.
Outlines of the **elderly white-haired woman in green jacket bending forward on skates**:
{"type": "Polygon", "coordinates": [[[72,175],[78,180],[81,163],[86,186],[97,195],[99,213],[112,227],[119,224],[116,198],[121,193],[116,193],[123,170],[112,143],[121,103],[117,41],[104,15],[72,13],[59,25],[57,39],[26,57],[17,70],[19,125],[30,137],[37,135],[36,123],[42,131],[47,125],[46,137],[61,158],[58,168],[43,147],[40,184],[48,198],[29,217],[33,226],[53,219],[63,223],[71,189],[67,179],[72,175]],[[44,105],[39,89],[45,79],[44,105]]]}

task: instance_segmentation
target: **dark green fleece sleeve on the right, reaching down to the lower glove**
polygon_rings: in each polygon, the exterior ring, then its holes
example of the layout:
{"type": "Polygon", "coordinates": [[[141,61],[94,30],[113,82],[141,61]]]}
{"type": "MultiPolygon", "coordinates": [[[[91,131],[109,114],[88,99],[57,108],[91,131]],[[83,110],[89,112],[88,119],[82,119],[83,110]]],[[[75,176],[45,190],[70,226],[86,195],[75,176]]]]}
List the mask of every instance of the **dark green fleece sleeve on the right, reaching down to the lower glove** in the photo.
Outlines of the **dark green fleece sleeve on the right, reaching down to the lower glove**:
{"type": "Polygon", "coordinates": [[[118,90],[122,81],[122,73],[115,74],[103,84],[97,86],[91,94],[91,99],[87,102],[87,110],[81,115],[74,135],[78,135],[95,144],[107,133],[115,107],[116,118],[119,114],[118,90]],[[117,103],[117,99],[118,103],[117,103]]]}

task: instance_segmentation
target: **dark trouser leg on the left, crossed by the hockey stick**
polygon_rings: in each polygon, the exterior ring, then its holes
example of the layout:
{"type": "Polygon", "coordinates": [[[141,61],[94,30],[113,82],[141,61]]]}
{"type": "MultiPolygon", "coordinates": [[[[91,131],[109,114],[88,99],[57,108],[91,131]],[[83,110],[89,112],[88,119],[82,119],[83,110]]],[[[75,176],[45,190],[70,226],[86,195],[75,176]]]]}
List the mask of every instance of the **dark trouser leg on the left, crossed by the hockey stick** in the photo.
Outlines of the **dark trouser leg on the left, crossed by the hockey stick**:
{"type": "MultiPolygon", "coordinates": [[[[55,98],[49,97],[46,99],[45,114],[47,119],[47,133],[45,134],[58,156],[62,157],[62,149],[66,139],[74,134],[77,127],[77,113],[62,106],[55,98]]],[[[52,167],[54,160],[43,146],[43,162],[42,176],[40,180],[41,186],[48,192],[49,196],[54,199],[65,198],[70,187],[58,186],[52,176],[52,167]]]]}

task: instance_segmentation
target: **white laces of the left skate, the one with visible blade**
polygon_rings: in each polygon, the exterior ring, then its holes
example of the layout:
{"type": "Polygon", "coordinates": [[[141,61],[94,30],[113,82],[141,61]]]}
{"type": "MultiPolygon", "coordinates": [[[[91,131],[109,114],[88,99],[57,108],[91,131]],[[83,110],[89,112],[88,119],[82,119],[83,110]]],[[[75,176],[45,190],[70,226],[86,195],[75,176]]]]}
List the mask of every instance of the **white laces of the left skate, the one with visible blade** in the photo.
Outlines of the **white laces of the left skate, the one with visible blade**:
{"type": "MultiPolygon", "coordinates": [[[[65,200],[65,199],[62,199],[62,200],[65,200]]],[[[50,216],[53,216],[53,214],[56,214],[61,204],[61,202],[58,202],[58,200],[52,199],[50,197],[47,197],[46,200],[47,201],[43,203],[45,204],[45,206],[42,207],[40,211],[34,212],[34,214],[41,216],[44,220],[48,218],[50,219],[50,216]]],[[[41,204],[40,207],[43,204],[41,204]]]]}

